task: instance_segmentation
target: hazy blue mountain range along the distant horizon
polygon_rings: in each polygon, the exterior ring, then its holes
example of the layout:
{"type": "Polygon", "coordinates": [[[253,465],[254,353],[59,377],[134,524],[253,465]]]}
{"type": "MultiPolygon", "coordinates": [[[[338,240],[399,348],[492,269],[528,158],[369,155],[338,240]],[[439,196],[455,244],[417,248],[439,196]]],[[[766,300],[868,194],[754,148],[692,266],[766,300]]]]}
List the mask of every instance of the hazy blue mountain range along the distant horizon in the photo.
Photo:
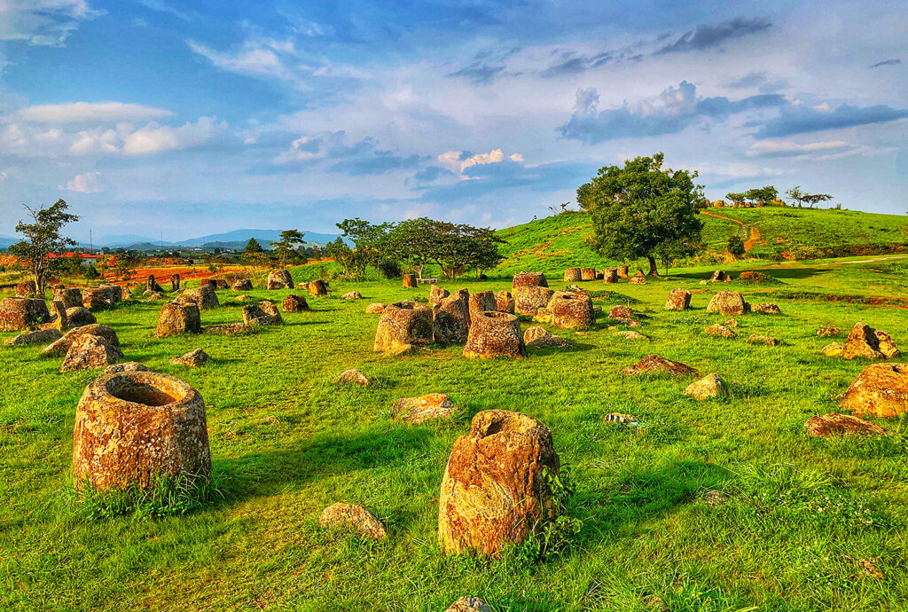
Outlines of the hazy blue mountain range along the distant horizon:
{"type": "MultiPolygon", "coordinates": [[[[328,242],[337,240],[338,234],[319,233],[319,232],[302,232],[303,239],[308,246],[325,245],[328,242]]],[[[262,248],[267,249],[269,242],[276,242],[281,239],[280,230],[233,230],[232,232],[212,233],[207,236],[198,238],[187,238],[177,242],[168,242],[155,240],[148,236],[137,234],[122,234],[115,236],[100,236],[95,238],[93,243],[80,242],[79,248],[87,249],[94,246],[95,249],[108,247],[111,249],[133,249],[135,251],[153,251],[160,249],[183,248],[200,248],[206,250],[212,249],[242,249],[249,242],[250,238],[258,241],[262,248]]],[[[15,236],[0,235],[0,249],[5,249],[10,244],[19,242],[20,239],[15,236]]]]}

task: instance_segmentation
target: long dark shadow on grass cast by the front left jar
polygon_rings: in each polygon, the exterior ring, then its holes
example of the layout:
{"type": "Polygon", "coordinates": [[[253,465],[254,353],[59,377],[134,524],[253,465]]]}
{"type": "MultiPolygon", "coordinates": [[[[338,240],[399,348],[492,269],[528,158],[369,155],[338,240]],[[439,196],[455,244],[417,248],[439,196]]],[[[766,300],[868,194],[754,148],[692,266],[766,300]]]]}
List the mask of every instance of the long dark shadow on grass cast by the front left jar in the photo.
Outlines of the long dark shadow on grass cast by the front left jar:
{"type": "Polygon", "coordinates": [[[359,469],[400,464],[426,449],[429,429],[321,435],[282,449],[215,461],[224,504],[276,491],[301,489],[313,480],[359,469]]]}

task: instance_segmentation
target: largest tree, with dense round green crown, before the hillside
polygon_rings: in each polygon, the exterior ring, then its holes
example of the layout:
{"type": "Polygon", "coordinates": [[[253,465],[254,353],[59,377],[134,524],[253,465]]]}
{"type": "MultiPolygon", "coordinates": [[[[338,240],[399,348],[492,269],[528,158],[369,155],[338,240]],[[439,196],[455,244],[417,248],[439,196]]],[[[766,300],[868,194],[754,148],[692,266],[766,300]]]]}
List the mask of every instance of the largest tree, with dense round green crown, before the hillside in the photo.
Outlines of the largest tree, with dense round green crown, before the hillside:
{"type": "Polygon", "coordinates": [[[663,169],[664,157],[656,153],[627,160],[624,167],[604,166],[577,189],[577,202],[592,216],[593,249],[625,262],[646,257],[651,275],[658,274],[656,257],[683,257],[702,242],[697,173],[663,169]]]}

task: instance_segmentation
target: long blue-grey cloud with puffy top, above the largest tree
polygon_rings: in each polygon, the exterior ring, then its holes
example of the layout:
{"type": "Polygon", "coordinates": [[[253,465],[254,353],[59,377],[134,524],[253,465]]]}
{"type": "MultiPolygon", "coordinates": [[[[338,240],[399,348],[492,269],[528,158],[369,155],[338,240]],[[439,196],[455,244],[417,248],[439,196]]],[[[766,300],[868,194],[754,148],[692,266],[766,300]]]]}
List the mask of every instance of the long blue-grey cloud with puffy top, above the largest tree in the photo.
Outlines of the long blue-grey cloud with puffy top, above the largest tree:
{"type": "Polygon", "coordinates": [[[659,94],[657,104],[643,101],[632,108],[627,102],[619,108],[598,110],[596,88],[577,90],[574,114],[561,126],[565,138],[588,144],[617,138],[659,136],[677,133],[700,118],[721,119],[745,111],[778,107],[785,98],[778,94],[759,94],[731,101],[724,96],[697,97],[696,86],[682,81],[659,94]]]}

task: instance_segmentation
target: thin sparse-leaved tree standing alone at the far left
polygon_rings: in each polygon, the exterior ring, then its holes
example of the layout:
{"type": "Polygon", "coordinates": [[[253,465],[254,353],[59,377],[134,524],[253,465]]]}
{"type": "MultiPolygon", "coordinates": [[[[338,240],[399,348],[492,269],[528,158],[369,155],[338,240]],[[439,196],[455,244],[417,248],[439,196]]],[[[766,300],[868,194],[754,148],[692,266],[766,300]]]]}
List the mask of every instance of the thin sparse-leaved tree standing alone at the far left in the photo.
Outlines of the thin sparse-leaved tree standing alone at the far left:
{"type": "Polygon", "coordinates": [[[16,260],[26,265],[35,279],[35,288],[38,295],[44,295],[47,281],[54,277],[54,273],[62,267],[64,259],[51,257],[53,254],[63,254],[66,247],[74,246],[76,242],[71,238],[61,235],[64,225],[76,222],[79,217],[67,211],[69,205],[63,200],[57,200],[48,208],[44,206],[33,209],[25,206],[25,210],[32,217],[31,223],[18,222],[15,232],[25,236],[25,240],[16,242],[9,247],[9,253],[15,255],[16,260]]]}

